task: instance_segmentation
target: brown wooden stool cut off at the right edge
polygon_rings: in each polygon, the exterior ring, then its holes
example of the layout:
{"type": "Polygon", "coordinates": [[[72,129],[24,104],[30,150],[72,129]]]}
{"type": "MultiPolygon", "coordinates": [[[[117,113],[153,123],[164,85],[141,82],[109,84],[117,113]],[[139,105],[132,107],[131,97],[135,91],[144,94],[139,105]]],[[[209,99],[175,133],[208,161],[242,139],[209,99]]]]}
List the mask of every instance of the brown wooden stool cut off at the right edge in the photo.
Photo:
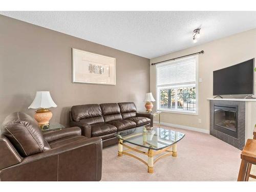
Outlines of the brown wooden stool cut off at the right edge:
{"type": "Polygon", "coordinates": [[[241,165],[238,174],[238,181],[248,181],[249,177],[256,179],[250,175],[251,164],[256,164],[256,140],[248,139],[241,153],[241,165]]]}

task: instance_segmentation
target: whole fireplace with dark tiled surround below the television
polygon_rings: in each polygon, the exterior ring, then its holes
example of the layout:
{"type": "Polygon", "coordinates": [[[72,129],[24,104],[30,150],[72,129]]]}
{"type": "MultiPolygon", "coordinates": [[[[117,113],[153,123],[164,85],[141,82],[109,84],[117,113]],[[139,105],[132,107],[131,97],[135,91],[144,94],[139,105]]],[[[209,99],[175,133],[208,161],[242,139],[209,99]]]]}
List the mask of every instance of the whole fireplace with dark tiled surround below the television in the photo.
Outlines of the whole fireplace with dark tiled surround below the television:
{"type": "Polygon", "coordinates": [[[245,102],[210,100],[210,135],[243,150],[245,144],[245,102]]]}

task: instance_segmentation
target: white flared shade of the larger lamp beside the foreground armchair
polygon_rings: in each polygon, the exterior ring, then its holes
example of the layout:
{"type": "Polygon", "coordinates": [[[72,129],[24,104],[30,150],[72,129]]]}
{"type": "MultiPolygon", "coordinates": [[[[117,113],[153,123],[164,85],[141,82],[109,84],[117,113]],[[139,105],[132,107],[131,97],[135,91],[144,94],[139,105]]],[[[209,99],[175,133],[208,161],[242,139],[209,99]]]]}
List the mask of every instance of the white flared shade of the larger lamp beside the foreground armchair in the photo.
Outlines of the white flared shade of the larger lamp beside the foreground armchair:
{"type": "Polygon", "coordinates": [[[35,98],[31,105],[28,107],[29,109],[40,109],[40,108],[56,108],[55,102],[52,100],[49,91],[37,91],[35,98]]]}

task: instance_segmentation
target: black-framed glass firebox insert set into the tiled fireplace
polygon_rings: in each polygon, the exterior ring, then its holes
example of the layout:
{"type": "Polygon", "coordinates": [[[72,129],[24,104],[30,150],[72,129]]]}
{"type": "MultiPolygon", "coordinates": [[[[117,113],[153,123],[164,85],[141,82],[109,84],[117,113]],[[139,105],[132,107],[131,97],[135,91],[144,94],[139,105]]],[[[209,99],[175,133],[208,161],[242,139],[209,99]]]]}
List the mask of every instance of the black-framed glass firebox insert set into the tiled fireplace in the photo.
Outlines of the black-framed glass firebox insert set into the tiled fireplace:
{"type": "Polygon", "coordinates": [[[214,105],[214,129],[238,138],[238,105],[214,105]]]}

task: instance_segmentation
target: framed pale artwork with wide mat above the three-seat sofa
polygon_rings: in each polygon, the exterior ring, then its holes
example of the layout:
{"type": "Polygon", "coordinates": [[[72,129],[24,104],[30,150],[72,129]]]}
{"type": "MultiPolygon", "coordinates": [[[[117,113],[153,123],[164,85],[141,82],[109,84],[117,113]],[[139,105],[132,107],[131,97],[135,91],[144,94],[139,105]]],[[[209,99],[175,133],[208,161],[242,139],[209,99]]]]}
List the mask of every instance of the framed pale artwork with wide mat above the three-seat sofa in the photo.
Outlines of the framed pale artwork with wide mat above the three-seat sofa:
{"type": "Polygon", "coordinates": [[[72,48],[72,82],[116,85],[116,58],[72,48]]]}

